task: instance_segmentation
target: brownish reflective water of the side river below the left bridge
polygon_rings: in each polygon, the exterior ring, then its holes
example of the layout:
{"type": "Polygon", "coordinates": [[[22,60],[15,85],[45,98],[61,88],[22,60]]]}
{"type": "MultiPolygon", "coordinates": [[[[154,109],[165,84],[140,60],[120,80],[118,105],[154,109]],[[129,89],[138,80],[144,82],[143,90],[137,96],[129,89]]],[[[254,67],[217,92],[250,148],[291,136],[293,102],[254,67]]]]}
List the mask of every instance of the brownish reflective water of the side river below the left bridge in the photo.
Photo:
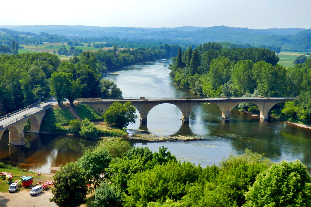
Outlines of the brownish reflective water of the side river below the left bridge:
{"type": "Polygon", "coordinates": [[[88,149],[93,149],[98,140],[75,136],[25,133],[25,145],[10,146],[8,134],[0,140],[0,162],[26,168],[35,172],[54,173],[50,167],[59,167],[75,162],[88,149]]]}

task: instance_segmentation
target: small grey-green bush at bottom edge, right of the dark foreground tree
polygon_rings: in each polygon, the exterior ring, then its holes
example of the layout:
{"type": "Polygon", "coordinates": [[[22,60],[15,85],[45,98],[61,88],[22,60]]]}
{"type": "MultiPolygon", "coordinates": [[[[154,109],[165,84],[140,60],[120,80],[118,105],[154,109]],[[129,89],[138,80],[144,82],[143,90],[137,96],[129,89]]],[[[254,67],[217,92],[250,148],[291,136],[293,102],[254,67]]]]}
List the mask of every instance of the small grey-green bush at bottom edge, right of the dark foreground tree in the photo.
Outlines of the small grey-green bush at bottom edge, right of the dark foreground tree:
{"type": "Polygon", "coordinates": [[[112,184],[100,183],[95,190],[95,200],[92,201],[94,207],[114,207],[121,202],[121,194],[112,184]]]}

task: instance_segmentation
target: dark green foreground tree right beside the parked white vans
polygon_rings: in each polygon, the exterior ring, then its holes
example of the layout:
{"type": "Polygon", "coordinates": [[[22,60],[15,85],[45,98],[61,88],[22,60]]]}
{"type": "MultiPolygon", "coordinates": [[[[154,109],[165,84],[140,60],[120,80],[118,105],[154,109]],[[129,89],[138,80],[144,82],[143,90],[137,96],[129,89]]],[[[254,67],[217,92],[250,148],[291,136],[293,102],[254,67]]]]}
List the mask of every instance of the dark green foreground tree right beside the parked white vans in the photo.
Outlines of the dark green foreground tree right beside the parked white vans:
{"type": "Polygon", "coordinates": [[[86,203],[87,180],[77,163],[69,162],[53,175],[55,184],[50,201],[59,206],[78,207],[86,203]]]}

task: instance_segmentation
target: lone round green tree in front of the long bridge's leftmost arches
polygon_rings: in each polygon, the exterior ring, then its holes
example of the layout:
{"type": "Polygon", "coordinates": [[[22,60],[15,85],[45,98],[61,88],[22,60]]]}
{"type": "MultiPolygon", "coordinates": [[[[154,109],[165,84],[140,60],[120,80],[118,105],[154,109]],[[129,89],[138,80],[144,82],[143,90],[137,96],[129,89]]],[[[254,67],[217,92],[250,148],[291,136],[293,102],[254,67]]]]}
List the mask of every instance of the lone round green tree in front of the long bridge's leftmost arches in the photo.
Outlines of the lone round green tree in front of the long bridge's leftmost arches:
{"type": "Polygon", "coordinates": [[[106,124],[115,124],[120,128],[128,126],[129,123],[135,123],[138,118],[136,108],[132,106],[130,101],[125,104],[114,102],[109,106],[104,114],[104,121],[106,124]]]}

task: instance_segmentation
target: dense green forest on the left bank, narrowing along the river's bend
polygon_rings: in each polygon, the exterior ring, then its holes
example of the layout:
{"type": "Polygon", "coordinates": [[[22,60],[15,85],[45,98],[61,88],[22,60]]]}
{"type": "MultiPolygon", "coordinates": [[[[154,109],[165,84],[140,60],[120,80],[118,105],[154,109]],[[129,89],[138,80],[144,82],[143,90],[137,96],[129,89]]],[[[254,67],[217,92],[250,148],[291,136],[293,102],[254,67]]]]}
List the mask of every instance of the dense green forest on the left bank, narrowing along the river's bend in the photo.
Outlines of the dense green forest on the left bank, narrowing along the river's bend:
{"type": "MultiPolygon", "coordinates": [[[[82,52],[69,62],[48,52],[0,55],[0,115],[30,105],[50,94],[58,102],[79,97],[122,97],[111,81],[102,79],[107,70],[167,57],[164,49],[98,50],[82,52]]],[[[168,51],[167,51],[168,50],[168,51]]]]}

